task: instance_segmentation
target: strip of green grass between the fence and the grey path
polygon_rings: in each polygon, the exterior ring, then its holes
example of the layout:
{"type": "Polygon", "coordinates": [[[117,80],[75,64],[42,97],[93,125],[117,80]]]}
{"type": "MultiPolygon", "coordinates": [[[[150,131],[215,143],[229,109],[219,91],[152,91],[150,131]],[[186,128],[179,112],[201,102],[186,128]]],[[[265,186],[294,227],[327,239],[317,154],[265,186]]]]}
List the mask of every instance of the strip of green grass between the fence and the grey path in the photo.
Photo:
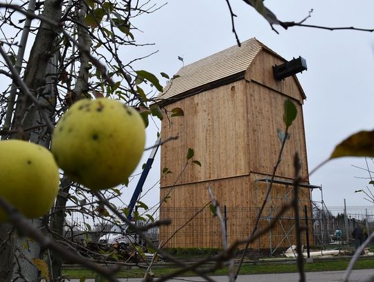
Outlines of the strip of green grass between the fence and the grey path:
{"type": "MultiPolygon", "coordinates": [[[[348,266],[348,259],[339,259],[335,261],[314,261],[314,263],[305,264],[306,272],[316,271],[330,271],[330,270],[345,270],[348,266]]],[[[373,259],[362,259],[355,263],[355,269],[371,269],[373,267],[373,259]]],[[[175,267],[152,267],[152,272],[155,276],[162,276],[169,274],[177,270],[175,267]]],[[[133,270],[122,270],[118,273],[118,277],[123,278],[134,278],[143,277],[145,270],[133,269],[133,270]]],[[[267,273],[290,273],[298,272],[296,263],[258,263],[258,264],[244,264],[240,274],[267,274],[267,273]]],[[[212,275],[224,275],[227,273],[226,269],[217,270],[212,275]]],[[[65,268],[63,270],[64,276],[69,279],[73,278],[94,278],[96,274],[91,270],[79,269],[79,268],[65,268]]],[[[193,276],[193,272],[186,272],[183,276],[193,276]]]]}

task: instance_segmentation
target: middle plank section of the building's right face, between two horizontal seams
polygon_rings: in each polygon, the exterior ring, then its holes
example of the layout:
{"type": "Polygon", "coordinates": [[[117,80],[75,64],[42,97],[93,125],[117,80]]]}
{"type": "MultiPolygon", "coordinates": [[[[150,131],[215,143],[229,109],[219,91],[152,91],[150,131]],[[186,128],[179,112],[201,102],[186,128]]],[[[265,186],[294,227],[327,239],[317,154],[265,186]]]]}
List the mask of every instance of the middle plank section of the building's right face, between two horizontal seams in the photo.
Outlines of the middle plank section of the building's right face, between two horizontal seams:
{"type": "MultiPolygon", "coordinates": [[[[271,175],[278,159],[281,139],[278,131],[285,133],[283,105],[287,97],[276,91],[262,87],[255,82],[247,82],[248,139],[251,148],[249,167],[253,173],[271,175]]],[[[299,152],[301,175],[308,179],[308,162],[303,130],[303,110],[295,101],[298,114],[289,128],[290,139],[286,141],[282,161],[276,175],[294,177],[294,154],[299,152]]]]}

